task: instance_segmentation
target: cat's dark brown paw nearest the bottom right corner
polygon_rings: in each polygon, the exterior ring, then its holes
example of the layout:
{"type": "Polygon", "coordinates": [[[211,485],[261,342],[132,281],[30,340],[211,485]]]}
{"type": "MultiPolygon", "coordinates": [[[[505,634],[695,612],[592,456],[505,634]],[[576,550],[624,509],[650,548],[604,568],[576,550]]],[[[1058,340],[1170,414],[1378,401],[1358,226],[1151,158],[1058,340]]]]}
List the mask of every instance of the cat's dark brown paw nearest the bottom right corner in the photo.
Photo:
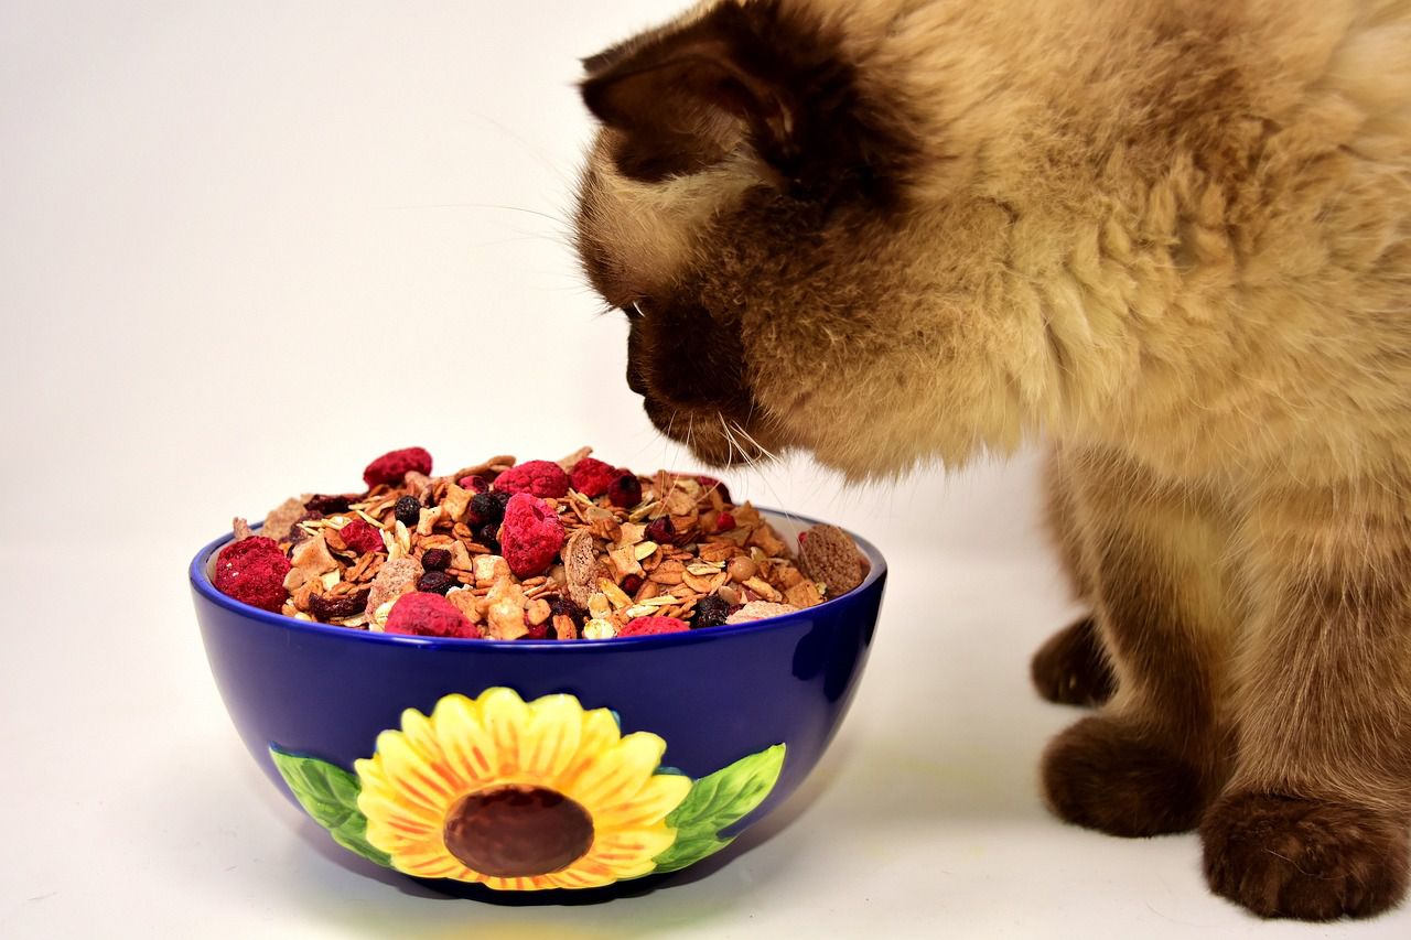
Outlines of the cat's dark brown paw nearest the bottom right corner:
{"type": "Polygon", "coordinates": [[[1407,889],[1407,823],[1345,803],[1221,797],[1201,823],[1205,876],[1261,917],[1370,917],[1407,889]]]}

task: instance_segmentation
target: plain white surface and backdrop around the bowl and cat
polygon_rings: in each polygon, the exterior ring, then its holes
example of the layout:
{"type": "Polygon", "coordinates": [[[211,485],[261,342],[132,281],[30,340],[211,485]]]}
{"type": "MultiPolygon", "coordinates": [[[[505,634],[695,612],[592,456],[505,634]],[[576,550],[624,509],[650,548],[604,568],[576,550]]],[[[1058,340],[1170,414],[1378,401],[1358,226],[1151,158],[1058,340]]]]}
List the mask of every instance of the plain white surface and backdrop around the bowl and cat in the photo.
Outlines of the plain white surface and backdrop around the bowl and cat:
{"type": "Polygon", "coordinates": [[[233,512],[413,443],[442,467],[583,442],[689,464],[626,391],[562,222],[577,56],[667,8],[0,6],[0,934],[1411,936],[1411,912],[1259,923],[1205,892],[1194,837],[1044,813],[1037,757],[1077,713],[1034,697],[1027,656],[1075,611],[1033,460],[875,491],[801,462],[729,477],[866,534],[892,580],[824,768],[704,878],[433,898],[258,775],[183,582],[233,512]]]}

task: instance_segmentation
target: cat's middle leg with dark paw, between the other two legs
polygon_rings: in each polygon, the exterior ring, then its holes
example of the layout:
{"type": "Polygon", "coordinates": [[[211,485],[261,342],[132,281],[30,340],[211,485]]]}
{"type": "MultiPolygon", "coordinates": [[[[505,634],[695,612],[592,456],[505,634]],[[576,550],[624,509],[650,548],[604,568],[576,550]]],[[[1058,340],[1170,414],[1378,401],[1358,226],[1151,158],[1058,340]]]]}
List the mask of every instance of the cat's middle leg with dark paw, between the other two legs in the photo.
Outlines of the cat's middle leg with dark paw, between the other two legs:
{"type": "Polygon", "coordinates": [[[1219,517],[1116,454],[1062,459],[1116,692],[1048,745],[1044,795],[1060,817],[1115,836],[1194,828],[1226,772],[1219,517]]]}

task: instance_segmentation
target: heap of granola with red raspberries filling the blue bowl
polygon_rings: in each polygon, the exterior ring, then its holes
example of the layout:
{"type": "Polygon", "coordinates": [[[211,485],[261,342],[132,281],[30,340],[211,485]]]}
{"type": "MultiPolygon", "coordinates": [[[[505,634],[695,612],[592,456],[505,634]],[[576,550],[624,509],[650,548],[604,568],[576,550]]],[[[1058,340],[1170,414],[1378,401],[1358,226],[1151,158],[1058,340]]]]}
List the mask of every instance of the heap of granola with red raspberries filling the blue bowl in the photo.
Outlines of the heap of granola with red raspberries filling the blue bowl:
{"type": "Polygon", "coordinates": [[[762,620],[866,576],[837,526],[800,535],[796,558],[718,480],[641,477],[588,454],[433,477],[425,450],[394,450],[368,466],[364,493],[286,500],[260,535],[236,519],[216,586],[353,629],[607,639],[762,620]]]}

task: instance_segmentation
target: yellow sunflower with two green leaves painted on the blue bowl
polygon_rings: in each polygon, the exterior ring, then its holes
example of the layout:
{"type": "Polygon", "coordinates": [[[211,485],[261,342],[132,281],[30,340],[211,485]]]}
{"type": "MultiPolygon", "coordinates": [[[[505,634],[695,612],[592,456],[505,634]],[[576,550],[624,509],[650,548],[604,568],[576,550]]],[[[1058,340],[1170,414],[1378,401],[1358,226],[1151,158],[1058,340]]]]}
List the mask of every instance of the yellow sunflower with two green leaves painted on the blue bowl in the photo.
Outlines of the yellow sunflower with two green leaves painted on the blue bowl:
{"type": "Polygon", "coordinates": [[[285,782],[339,844],[418,878],[497,891],[601,888],[684,868],[729,844],[720,830],[779,779],[785,747],[691,782],[666,742],[624,735],[574,696],[511,689],[402,713],[357,775],[271,748],[285,782]]]}

